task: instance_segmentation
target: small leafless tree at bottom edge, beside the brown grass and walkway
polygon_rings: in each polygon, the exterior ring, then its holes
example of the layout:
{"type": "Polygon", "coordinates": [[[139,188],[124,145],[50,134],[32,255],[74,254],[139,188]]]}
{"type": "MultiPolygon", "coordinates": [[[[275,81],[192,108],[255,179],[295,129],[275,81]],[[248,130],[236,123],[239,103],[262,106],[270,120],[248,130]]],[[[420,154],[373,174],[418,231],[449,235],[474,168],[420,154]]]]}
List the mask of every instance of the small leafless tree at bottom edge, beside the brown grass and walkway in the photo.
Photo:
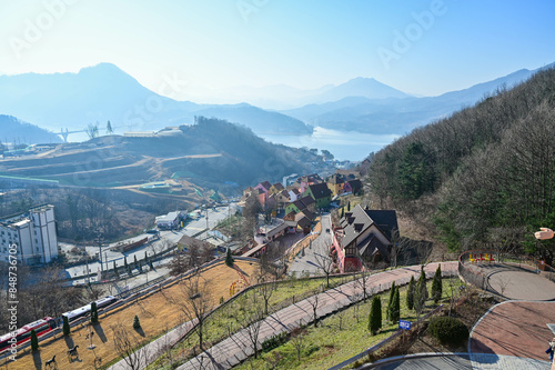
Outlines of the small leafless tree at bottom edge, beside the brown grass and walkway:
{"type": "Polygon", "coordinates": [[[115,352],[123,359],[128,369],[139,370],[148,363],[148,347],[142,347],[137,337],[127,330],[121,322],[111,326],[113,334],[113,347],[115,352]]]}

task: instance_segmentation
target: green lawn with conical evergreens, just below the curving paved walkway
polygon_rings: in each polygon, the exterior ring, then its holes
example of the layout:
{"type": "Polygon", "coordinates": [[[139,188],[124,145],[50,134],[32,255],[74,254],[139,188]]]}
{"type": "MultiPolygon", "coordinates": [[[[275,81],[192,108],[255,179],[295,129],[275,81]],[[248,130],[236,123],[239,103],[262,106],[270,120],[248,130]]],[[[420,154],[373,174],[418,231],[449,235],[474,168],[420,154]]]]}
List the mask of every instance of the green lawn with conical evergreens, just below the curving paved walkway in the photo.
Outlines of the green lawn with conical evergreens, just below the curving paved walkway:
{"type": "MultiPolygon", "coordinates": [[[[448,300],[451,289],[448,289],[450,279],[443,281],[443,299],[448,300]]],[[[451,279],[454,290],[458,291],[461,281],[458,279],[451,279]]],[[[427,283],[428,290],[432,282],[427,283]]],[[[400,289],[401,294],[401,319],[415,321],[416,312],[406,308],[406,287],[400,289]]],[[[259,359],[251,358],[239,367],[239,369],[327,369],[337,364],[369,347],[382,341],[397,330],[397,322],[389,322],[385,320],[385,308],[387,306],[390,292],[380,294],[382,299],[382,324],[381,332],[372,336],[369,332],[369,313],[370,302],[360,302],[351,306],[350,308],[336,312],[329,318],[320,321],[320,326],[314,328],[309,326],[302,332],[301,340],[289,340],[282,346],[263,353],[259,359]],[[304,347],[301,350],[301,360],[297,360],[297,352],[295,343],[304,347]]],[[[433,301],[426,304],[427,312],[434,309],[433,301]]]]}

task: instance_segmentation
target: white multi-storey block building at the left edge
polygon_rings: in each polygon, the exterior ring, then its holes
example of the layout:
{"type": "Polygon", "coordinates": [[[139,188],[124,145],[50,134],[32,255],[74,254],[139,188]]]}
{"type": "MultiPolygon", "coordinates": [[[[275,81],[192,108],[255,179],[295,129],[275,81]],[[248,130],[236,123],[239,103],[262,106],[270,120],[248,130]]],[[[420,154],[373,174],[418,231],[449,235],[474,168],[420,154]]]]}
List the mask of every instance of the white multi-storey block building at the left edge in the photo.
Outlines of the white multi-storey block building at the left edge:
{"type": "Polygon", "coordinates": [[[49,263],[58,257],[54,206],[34,207],[27,213],[0,221],[0,260],[9,260],[9,247],[26,264],[49,263]]]}

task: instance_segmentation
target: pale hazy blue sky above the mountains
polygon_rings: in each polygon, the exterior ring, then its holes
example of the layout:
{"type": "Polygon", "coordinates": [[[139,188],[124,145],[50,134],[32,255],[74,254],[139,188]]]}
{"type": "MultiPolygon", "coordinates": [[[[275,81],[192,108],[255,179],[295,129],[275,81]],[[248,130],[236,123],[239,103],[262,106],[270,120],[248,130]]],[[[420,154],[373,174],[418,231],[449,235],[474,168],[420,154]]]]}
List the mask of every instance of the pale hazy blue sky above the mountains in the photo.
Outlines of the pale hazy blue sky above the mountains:
{"type": "MultiPolygon", "coordinates": [[[[372,77],[434,96],[555,61],[555,1],[0,2],[0,74],[112,62],[157,91],[372,77]]],[[[178,97],[179,98],[179,97],[178,97]]]]}

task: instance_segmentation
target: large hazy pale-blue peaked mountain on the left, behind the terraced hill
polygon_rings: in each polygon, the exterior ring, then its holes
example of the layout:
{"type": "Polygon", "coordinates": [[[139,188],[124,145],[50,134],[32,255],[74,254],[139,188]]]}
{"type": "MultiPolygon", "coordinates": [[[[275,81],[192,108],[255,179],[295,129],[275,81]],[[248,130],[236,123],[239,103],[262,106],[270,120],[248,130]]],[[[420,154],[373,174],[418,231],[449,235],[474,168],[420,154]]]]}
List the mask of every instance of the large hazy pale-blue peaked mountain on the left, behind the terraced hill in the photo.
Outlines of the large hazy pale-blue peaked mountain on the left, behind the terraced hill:
{"type": "MultiPolygon", "coordinates": [[[[194,116],[242,123],[254,132],[312,133],[312,127],[250,104],[206,106],[176,101],[141,86],[118,67],[101,63],[79,73],[0,76],[0,112],[59,131],[81,131],[89,123],[117,133],[188,124],[194,116]]],[[[71,139],[71,137],[70,137],[71,139]]]]}

